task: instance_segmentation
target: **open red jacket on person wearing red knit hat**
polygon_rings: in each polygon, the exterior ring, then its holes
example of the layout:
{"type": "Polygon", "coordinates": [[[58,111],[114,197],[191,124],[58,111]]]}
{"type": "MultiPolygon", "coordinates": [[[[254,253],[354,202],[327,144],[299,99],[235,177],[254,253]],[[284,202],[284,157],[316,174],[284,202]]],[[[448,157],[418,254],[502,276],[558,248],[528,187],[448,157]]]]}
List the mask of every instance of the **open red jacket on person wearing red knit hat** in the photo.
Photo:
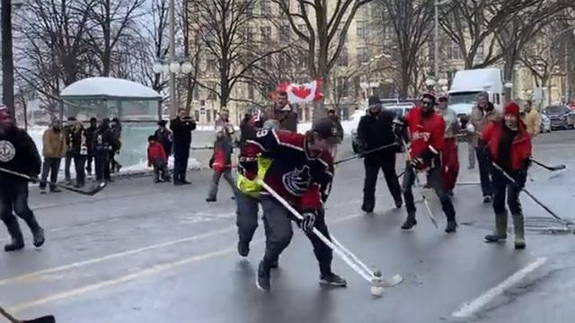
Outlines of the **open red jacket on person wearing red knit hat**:
{"type": "MultiPolygon", "coordinates": [[[[494,162],[499,161],[500,141],[503,136],[503,127],[500,122],[491,122],[482,132],[482,140],[487,143],[491,159],[494,162]]],[[[511,144],[511,169],[521,170],[525,167],[526,160],[531,157],[531,138],[526,131],[523,122],[519,121],[517,135],[511,144]]]]}

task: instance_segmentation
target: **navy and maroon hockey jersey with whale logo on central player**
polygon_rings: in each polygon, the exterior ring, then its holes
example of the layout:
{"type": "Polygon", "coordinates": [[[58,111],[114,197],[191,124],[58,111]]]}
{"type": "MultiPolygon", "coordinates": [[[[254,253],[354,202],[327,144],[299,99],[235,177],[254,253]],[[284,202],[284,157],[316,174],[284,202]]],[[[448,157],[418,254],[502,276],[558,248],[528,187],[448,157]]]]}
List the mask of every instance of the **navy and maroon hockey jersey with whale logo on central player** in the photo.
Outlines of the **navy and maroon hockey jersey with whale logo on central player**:
{"type": "Polygon", "coordinates": [[[300,211],[321,207],[333,179],[330,153],[311,157],[306,140],[305,135],[263,129],[247,140],[242,150],[242,157],[255,158],[262,153],[272,160],[263,181],[300,211]]]}

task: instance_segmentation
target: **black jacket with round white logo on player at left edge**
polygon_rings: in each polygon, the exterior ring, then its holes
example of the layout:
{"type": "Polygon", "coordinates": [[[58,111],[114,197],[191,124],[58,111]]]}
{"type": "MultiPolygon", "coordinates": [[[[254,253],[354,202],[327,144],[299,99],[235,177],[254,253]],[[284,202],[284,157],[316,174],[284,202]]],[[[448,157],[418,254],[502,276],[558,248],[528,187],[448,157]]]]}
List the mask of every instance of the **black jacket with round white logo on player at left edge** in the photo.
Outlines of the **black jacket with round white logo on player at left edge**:
{"type": "MultiPolygon", "coordinates": [[[[40,174],[40,153],[30,135],[19,127],[6,129],[0,135],[0,167],[22,174],[38,176],[40,174]]],[[[25,180],[0,171],[0,183],[8,184],[13,180],[25,180]]]]}

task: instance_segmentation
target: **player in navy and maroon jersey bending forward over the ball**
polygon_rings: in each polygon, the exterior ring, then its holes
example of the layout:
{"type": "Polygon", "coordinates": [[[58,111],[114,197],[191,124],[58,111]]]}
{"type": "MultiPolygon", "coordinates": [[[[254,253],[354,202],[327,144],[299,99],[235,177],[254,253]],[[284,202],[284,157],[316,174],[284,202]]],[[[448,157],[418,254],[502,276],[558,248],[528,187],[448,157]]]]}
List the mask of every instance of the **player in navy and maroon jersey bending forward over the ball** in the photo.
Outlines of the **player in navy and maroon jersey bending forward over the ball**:
{"type": "MultiPolygon", "coordinates": [[[[340,143],[337,125],[329,119],[319,120],[305,135],[283,130],[260,130],[255,138],[247,140],[240,155],[240,171],[248,179],[258,173],[256,158],[259,154],[271,159],[266,184],[302,214],[304,220],[296,222],[314,246],[320,267],[320,284],[345,286],[347,282],[332,273],[332,249],[314,233],[313,228],[330,237],[324,219],[323,202],[327,199],[333,178],[333,145],[340,143]]],[[[264,292],[270,291],[270,267],[279,254],[288,247],[293,231],[288,209],[274,197],[261,192],[261,206],[267,223],[266,250],[258,267],[256,283],[264,292]]]]}

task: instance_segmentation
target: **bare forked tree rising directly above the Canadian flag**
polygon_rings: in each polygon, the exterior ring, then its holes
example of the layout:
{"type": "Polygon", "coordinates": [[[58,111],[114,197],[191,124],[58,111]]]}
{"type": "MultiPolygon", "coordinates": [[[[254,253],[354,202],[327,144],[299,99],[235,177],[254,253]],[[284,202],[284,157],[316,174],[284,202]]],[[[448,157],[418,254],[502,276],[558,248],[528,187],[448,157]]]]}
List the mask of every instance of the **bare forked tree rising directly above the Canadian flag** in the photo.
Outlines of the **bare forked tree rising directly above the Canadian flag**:
{"type": "MultiPolygon", "coordinates": [[[[358,9],[373,0],[271,0],[287,16],[292,31],[306,48],[306,67],[312,78],[322,78],[324,92],[329,92],[332,68],[337,64],[345,45],[349,25],[358,9]],[[303,24],[301,23],[303,22],[303,24]]],[[[315,105],[314,118],[325,116],[320,104],[315,105]]]]}

